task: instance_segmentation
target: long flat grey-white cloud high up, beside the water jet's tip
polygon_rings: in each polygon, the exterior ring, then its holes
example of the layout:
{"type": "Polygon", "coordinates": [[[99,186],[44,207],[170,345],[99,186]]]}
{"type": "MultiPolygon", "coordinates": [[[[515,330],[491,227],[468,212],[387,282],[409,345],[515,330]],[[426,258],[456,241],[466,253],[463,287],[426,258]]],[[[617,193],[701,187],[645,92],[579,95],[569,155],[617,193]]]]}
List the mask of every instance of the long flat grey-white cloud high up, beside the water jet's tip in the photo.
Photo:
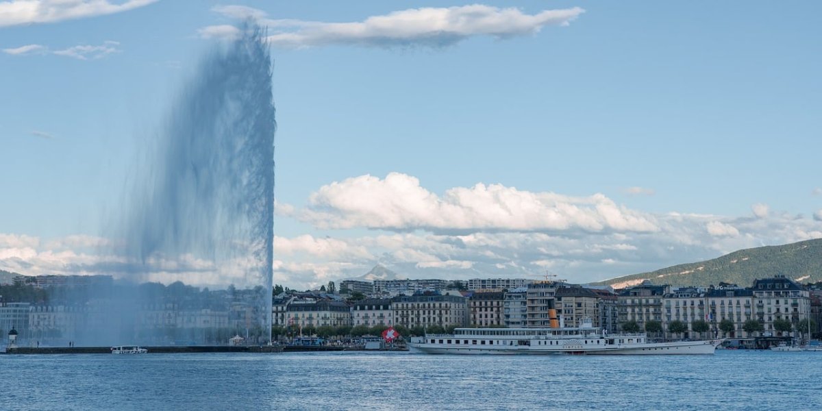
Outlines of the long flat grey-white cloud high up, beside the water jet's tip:
{"type": "MultiPolygon", "coordinates": [[[[284,48],[327,45],[443,47],[478,35],[496,39],[533,35],[546,25],[568,25],[584,12],[580,7],[573,7],[543,10],[531,15],[514,7],[473,4],[422,7],[370,16],[363,21],[330,23],[266,19],[266,12],[244,6],[221,6],[213,10],[232,18],[256,19],[270,30],[270,44],[284,48]]],[[[219,31],[209,27],[204,30],[219,31]]],[[[231,35],[228,31],[224,34],[231,35]]]]}

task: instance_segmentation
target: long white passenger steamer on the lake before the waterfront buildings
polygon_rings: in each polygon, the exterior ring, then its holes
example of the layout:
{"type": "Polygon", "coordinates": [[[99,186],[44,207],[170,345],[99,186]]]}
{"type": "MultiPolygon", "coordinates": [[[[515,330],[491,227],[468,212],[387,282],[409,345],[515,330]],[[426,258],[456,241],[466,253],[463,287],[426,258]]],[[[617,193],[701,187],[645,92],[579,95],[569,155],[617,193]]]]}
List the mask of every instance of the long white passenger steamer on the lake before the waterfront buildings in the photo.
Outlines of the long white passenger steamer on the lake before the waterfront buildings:
{"type": "Polygon", "coordinates": [[[723,339],[653,343],[644,334],[606,334],[584,321],[578,328],[457,328],[412,341],[430,354],[713,354],[723,339]]]}

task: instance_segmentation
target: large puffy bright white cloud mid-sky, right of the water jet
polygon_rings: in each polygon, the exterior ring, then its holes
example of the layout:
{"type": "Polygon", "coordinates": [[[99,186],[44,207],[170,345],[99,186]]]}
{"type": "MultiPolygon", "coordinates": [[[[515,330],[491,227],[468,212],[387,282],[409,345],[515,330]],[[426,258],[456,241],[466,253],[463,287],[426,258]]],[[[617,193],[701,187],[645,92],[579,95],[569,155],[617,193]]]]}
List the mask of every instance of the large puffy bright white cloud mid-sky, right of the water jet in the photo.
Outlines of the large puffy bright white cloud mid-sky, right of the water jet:
{"type": "Polygon", "coordinates": [[[300,218],[326,229],[498,229],[514,231],[629,231],[658,229],[653,216],[628,210],[602,194],[562,196],[501,184],[455,187],[443,196],[417,178],[363,175],[320,187],[300,218]]]}

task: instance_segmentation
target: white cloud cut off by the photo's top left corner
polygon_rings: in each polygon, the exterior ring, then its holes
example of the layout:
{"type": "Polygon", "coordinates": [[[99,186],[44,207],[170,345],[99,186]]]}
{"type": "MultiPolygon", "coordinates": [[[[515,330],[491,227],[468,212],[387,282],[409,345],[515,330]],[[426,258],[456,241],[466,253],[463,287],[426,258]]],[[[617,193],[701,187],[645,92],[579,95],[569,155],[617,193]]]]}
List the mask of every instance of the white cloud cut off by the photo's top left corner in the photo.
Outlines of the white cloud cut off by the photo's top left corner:
{"type": "Polygon", "coordinates": [[[11,0],[0,2],[0,27],[103,16],[127,12],[157,0],[11,0]]]}

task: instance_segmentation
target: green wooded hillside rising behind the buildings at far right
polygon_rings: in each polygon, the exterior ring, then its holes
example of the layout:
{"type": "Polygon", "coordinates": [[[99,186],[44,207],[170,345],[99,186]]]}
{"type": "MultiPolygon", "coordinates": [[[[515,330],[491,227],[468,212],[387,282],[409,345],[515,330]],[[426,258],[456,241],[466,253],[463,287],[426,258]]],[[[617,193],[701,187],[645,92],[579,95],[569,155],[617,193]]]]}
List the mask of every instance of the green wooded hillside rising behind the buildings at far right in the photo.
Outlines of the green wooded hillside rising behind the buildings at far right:
{"type": "Polygon", "coordinates": [[[680,264],[593,284],[622,289],[648,279],[653,284],[671,284],[676,287],[708,287],[721,281],[750,287],[754,279],[778,274],[801,283],[822,281],[822,238],[784,246],[748,248],[713,260],[680,264]]]}

